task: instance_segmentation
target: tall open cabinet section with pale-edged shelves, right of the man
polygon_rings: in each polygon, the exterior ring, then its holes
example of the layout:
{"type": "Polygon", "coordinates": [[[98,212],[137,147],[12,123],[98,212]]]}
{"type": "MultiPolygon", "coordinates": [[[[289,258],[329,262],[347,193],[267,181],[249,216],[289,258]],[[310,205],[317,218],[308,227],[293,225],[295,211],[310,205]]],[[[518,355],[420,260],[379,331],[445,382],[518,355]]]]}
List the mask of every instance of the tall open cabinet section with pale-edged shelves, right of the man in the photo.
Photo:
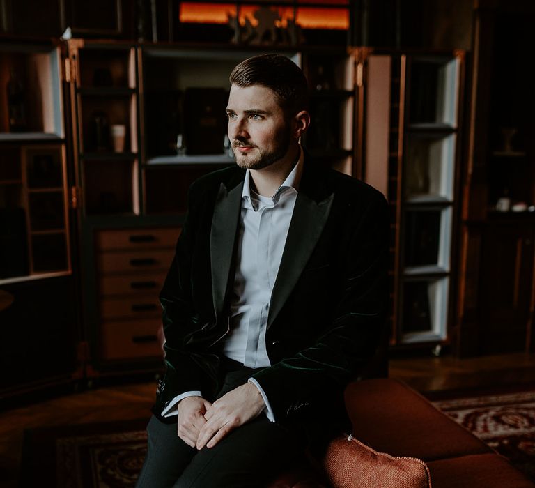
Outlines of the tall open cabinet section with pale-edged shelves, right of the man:
{"type": "Polygon", "coordinates": [[[357,49],[361,175],[391,206],[391,343],[448,344],[464,52],[357,49]]]}

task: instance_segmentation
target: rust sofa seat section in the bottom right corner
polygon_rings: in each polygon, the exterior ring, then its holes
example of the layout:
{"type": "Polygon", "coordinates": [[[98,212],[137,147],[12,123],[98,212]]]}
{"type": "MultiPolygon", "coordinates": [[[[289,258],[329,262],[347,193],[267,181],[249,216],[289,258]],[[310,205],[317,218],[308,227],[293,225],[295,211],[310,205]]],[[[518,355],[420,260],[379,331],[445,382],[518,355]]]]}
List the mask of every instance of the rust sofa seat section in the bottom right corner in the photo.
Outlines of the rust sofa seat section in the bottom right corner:
{"type": "Polygon", "coordinates": [[[534,488],[535,484],[497,454],[471,455],[428,463],[433,488],[534,488]]]}

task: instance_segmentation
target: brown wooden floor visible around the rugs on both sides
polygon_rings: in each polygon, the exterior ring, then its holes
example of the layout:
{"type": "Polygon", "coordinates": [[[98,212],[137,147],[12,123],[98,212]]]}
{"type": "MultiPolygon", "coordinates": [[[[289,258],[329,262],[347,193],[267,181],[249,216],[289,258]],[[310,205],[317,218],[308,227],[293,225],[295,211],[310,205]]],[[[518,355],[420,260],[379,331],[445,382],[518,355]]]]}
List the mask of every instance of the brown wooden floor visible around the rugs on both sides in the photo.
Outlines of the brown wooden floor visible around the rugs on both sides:
{"type": "MultiPolygon", "coordinates": [[[[419,391],[532,383],[535,355],[394,359],[390,376],[419,391]]],[[[148,418],[155,383],[98,388],[0,412],[0,485],[17,486],[24,429],[148,418]]]]}

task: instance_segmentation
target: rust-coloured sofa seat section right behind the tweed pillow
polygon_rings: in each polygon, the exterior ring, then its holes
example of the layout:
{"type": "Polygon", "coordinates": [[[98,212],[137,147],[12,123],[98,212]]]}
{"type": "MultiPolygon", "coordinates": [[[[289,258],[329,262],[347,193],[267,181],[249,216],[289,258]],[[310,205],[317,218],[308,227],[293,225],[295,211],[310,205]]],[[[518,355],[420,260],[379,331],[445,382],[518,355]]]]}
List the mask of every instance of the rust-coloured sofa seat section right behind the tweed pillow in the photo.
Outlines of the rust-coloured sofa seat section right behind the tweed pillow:
{"type": "Polygon", "coordinates": [[[352,434],[396,457],[425,461],[493,452],[488,445],[394,379],[369,379],[346,388],[352,434]]]}

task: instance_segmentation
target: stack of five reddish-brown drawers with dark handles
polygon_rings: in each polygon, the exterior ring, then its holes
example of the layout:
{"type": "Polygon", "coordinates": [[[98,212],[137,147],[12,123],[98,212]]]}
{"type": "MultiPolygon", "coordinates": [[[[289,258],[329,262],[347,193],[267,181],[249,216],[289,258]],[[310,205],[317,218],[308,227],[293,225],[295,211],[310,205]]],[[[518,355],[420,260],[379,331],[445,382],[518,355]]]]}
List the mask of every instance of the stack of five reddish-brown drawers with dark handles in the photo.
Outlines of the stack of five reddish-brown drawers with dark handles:
{"type": "Polygon", "coordinates": [[[99,346],[104,360],[162,356],[157,293],[178,234],[177,229],[97,231],[99,346]]]}

